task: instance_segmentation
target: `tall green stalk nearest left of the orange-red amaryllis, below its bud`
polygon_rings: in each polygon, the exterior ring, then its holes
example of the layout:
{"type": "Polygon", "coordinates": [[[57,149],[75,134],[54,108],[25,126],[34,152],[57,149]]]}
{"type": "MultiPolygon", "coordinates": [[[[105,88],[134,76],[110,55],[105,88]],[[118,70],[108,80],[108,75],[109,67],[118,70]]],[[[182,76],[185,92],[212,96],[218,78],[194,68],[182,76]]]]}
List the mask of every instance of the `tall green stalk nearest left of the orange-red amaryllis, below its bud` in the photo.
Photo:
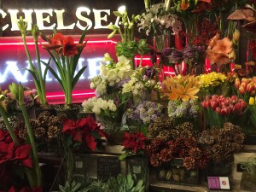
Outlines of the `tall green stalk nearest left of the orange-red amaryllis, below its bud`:
{"type": "MultiPolygon", "coordinates": [[[[36,55],[37,55],[37,60],[38,60],[38,80],[40,84],[40,89],[37,88],[40,98],[40,102],[43,106],[47,106],[48,102],[46,100],[46,95],[45,95],[45,83],[43,79],[43,74],[42,74],[42,68],[41,68],[41,61],[40,61],[40,55],[39,55],[39,49],[38,49],[38,39],[34,38],[35,41],[35,49],[36,49],[36,55]]],[[[46,70],[46,69],[45,69],[46,70]]]]}

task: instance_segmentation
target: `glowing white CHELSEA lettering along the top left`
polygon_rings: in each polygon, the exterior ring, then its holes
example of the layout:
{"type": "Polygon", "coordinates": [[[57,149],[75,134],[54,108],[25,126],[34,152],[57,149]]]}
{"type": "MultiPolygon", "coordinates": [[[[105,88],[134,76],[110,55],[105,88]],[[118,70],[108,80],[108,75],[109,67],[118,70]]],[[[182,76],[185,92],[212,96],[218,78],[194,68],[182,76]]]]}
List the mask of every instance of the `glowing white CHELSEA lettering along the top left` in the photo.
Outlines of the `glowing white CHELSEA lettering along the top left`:
{"type": "Polygon", "coordinates": [[[28,30],[32,28],[33,20],[36,20],[40,30],[73,30],[78,28],[84,30],[87,26],[88,29],[106,29],[108,25],[118,25],[119,17],[113,22],[109,21],[112,15],[110,9],[89,9],[87,7],[79,7],[75,10],[75,20],[72,23],[66,23],[65,9],[0,9],[0,29],[2,31],[19,31],[17,20],[19,15],[24,17],[28,23],[28,30]]]}

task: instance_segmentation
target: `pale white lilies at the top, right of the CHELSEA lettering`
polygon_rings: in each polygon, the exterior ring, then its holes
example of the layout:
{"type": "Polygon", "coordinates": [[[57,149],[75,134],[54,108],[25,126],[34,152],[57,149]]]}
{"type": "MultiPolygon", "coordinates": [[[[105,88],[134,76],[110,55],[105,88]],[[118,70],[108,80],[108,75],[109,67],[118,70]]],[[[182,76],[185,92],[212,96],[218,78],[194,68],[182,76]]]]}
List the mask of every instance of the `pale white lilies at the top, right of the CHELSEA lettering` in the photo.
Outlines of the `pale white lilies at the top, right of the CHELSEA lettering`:
{"type": "Polygon", "coordinates": [[[157,3],[146,9],[146,13],[141,16],[138,26],[139,32],[145,30],[147,35],[149,32],[157,31],[156,27],[159,27],[160,30],[172,27],[172,31],[178,33],[182,29],[182,22],[177,20],[177,15],[166,12],[165,3],[157,3]]]}

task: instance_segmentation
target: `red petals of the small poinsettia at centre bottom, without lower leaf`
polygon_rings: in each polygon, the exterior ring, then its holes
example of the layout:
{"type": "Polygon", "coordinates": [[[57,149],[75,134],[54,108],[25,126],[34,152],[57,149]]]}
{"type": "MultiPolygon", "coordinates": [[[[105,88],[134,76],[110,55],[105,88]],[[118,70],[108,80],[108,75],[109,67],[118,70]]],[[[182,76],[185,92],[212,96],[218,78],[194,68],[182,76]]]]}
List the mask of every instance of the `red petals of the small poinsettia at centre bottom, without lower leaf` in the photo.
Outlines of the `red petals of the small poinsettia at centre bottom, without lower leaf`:
{"type": "Polygon", "coordinates": [[[146,140],[147,138],[143,136],[142,132],[137,132],[137,133],[125,132],[125,140],[123,145],[126,149],[129,149],[132,152],[137,153],[138,149],[145,148],[144,144],[146,140]]]}

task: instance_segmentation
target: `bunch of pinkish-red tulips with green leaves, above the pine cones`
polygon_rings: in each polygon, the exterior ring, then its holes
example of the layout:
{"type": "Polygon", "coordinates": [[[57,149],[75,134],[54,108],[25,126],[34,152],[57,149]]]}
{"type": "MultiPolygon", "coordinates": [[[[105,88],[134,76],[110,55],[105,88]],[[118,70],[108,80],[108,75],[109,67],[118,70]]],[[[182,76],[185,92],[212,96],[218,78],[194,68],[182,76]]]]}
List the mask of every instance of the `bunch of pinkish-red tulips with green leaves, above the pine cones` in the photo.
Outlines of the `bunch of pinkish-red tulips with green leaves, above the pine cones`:
{"type": "Polygon", "coordinates": [[[207,122],[212,127],[217,125],[222,127],[224,123],[231,122],[237,125],[242,114],[247,109],[247,102],[237,96],[207,96],[201,102],[201,106],[206,111],[207,122]]]}

